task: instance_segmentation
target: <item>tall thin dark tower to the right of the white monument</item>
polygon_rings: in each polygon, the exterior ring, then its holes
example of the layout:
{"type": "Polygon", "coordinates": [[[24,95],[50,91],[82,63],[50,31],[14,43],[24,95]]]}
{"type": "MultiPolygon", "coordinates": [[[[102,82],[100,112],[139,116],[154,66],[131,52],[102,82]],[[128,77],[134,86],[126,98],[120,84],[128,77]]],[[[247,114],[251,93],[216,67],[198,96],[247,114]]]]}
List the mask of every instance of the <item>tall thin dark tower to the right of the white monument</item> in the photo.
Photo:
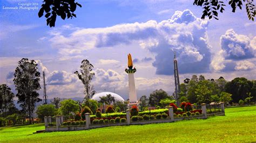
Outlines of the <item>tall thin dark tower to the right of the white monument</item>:
{"type": "Polygon", "coordinates": [[[174,79],[175,79],[175,98],[177,101],[177,104],[179,105],[178,97],[180,93],[180,85],[179,85],[179,71],[178,71],[178,63],[177,63],[177,58],[176,58],[176,51],[174,51],[174,79]]]}

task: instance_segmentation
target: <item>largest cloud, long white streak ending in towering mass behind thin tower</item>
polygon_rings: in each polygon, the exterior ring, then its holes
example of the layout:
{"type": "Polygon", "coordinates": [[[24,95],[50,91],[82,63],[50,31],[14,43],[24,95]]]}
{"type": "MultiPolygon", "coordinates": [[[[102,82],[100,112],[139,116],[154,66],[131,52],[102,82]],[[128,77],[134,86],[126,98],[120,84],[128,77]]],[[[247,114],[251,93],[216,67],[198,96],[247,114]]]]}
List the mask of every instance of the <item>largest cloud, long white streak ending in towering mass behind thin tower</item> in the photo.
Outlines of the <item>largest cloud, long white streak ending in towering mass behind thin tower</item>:
{"type": "Polygon", "coordinates": [[[118,24],[103,28],[79,28],[70,34],[52,34],[51,44],[63,55],[79,54],[92,48],[114,47],[137,43],[156,55],[156,74],[173,74],[173,51],[177,52],[180,73],[209,71],[208,22],[190,10],[176,11],[171,19],[156,22],[118,24]]]}

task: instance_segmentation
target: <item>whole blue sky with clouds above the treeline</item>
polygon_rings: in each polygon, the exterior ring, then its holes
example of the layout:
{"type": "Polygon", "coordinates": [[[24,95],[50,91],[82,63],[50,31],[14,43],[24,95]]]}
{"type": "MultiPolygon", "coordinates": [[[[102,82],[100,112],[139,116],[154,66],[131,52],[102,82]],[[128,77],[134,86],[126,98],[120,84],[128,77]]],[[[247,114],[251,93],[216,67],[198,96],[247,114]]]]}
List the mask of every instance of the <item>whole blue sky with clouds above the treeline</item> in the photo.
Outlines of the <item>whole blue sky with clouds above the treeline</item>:
{"type": "MultiPolygon", "coordinates": [[[[57,18],[46,26],[38,10],[6,10],[7,6],[41,1],[0,3],[0,83],[12,89],[12,73],[22,58],[37,60],[46,72],[48,95],[83,97],[74,71],[88,59],[95,67],[97,92],[128,95],[127,54],[136,59],[138,97],[155,89],[174,91],[173,51],[177,51],[180,82],[192,75],[226,80],[255,80],[256,23],[246,12],[229,6],[220,20],[201,20],[202,9],[192,1],[78,1],[77,18],[57,18]]],[[[42,91],[40,91],[42,95],[42,91]]]]}

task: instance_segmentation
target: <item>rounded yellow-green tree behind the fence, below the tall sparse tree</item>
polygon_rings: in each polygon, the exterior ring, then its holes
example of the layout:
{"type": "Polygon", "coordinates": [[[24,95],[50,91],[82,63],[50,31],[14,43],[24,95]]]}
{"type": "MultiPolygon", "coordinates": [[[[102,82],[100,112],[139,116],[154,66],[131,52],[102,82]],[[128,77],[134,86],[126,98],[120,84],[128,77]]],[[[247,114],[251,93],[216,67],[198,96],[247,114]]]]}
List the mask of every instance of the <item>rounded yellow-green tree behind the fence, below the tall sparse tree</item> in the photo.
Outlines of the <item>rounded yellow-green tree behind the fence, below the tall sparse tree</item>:
{"type": "Polygon", "coordinates": [[[70,113],[75,115],[79,111],[79,105],[76,101],[72,99],[65,99],[60,102],[60,111],[62,111],[64,116],[69,116],[70,113]]]}

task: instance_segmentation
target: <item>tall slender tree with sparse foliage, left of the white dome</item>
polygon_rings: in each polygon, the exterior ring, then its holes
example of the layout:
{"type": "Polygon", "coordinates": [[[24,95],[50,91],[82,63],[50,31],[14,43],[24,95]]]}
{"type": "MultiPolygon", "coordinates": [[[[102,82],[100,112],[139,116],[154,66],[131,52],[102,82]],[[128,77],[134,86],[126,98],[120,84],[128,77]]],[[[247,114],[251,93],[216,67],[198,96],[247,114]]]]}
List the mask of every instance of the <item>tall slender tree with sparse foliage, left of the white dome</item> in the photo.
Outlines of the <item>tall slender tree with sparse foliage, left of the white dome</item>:
{"type": "Polygon", "coordinates": [[[75,74],[78,76],[79,80],[82,81],[84,84],[84,94],[85,99],[90,98],[92,95],[95,94],[95,90],[91,85],[91,81],[95,73],[92,72],[92,64],[88,60],[83,60],[82,65],[80,66],[80,73],[75,71],[75,74]]]}

